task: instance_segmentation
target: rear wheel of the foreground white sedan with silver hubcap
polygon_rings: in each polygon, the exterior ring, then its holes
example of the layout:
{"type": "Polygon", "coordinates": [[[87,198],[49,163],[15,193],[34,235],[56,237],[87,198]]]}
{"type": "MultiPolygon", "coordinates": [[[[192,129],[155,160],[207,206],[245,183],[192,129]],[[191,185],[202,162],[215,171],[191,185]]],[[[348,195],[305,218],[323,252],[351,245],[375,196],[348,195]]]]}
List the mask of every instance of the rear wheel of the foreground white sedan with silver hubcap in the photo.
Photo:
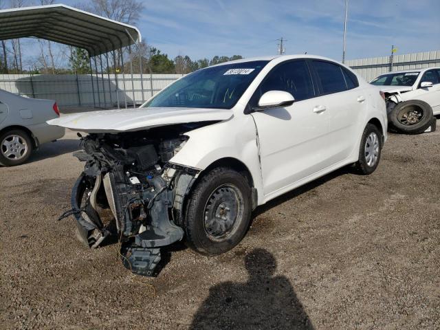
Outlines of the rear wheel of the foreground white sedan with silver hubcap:
{"type": "Polygon", "coordinates": [[[382,152],[381,135],[375,125],[366,124],[360,141],[359,159],[355,163],[358,173],[368,175],[376,170],[382,152]]]}

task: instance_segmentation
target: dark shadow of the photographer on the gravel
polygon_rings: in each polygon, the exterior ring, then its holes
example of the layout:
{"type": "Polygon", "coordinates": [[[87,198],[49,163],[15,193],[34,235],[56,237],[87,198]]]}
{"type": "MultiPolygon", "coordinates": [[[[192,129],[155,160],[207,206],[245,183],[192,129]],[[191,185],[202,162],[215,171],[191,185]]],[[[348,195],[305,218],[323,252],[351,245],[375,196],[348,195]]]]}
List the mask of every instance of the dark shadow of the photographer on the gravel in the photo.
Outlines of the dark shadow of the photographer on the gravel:
{"type": "Polygon", "coordinates": [[[190,329],[314,329],[285,276],[274,276],[276,260],[263,249],[245,256],[248,282],[211,287],[190,329]]]}

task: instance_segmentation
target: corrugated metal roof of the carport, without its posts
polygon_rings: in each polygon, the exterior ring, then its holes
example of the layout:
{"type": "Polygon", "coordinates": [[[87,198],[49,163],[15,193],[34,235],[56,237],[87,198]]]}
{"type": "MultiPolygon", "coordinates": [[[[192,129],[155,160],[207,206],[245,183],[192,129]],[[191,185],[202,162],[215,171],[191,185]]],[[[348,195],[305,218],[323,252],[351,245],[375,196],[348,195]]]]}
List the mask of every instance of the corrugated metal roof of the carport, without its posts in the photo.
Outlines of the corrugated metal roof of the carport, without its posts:
{"type": "Polygon", "coordinates": [[[36,37],[84,48],[90,56],[118,50],[139,43],[142,39],[139,30],[132,25],[68,5],[0,10],[0,40],[24,37],[36,37]],[[67,38],[67,31],[71,32],[72,38],[67,38]]]}

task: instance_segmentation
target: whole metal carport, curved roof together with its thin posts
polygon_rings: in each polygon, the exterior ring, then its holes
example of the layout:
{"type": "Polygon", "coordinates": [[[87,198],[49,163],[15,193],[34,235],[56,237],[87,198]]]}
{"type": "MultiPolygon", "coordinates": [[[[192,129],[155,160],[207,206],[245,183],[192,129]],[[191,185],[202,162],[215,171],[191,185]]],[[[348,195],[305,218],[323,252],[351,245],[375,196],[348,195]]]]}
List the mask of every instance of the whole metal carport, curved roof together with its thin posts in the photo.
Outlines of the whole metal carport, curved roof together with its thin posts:
{"type": "MultiPolygon", "coordinates": [[[[107,106],[107,97],[104,88],[104,67],[102,65],[102,57],[104,57],[107,62],[107,75],[109,77],[110,91],[109,104],[111,106],[113,105],[113,100],[111,99],[109,56],[113,56],[113,69],[116,77],[116,102],[118,108],[120,107],[115,51],[120,50],[120,54],[122,54],[120,60],[122,61],[122,67],[124,67],[124,47],[128,47],[129,54],[131,54],[131,45],[137,45],[142,83],[142,58],[139,47],[142,36],[140,31],[132,25],[113,21],[63,4],[0,10],[0,40],[20,39],[25,37],[45,39],[87,50],[89,53],[91,87],[93,89],[95,107],[97,104],[95,99],[94,77],[96,78],[96,88],[98,89],[98,104],[99,107],[101,107],[101,92],[98,81],[98,59],[100,64],[100,78],[103,89],[102,96],[104,98],[104,107],[107,106]],[[95,75],[93,73],[92,59],[94,61],[95,75]]],[[[131,76],[133,77],[133,65],[131,62],[130,69],[131,76]]],[[[124,104],[125,107],[127,107],[125,80],[123,80],[123,83],[124,104]]],[[[143,86],[141,88],[142,99],[144,100],[143,86]]],[[[135,107],[134,98],[133,107],[135,107]]]]}

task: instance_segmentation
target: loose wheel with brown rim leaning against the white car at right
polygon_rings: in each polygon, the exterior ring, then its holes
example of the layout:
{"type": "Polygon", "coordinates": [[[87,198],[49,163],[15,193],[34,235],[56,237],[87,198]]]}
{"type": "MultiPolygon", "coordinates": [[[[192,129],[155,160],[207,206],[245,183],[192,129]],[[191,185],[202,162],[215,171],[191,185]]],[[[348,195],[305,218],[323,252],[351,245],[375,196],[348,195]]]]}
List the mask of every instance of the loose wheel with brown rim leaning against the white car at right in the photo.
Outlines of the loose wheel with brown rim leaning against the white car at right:
{"type": "Polygon", "coordinates": [[[420,100],[401,102],[389,113],[388,121],[401,133],[423,133],[432,122],[432,108],[420,100]]]}

